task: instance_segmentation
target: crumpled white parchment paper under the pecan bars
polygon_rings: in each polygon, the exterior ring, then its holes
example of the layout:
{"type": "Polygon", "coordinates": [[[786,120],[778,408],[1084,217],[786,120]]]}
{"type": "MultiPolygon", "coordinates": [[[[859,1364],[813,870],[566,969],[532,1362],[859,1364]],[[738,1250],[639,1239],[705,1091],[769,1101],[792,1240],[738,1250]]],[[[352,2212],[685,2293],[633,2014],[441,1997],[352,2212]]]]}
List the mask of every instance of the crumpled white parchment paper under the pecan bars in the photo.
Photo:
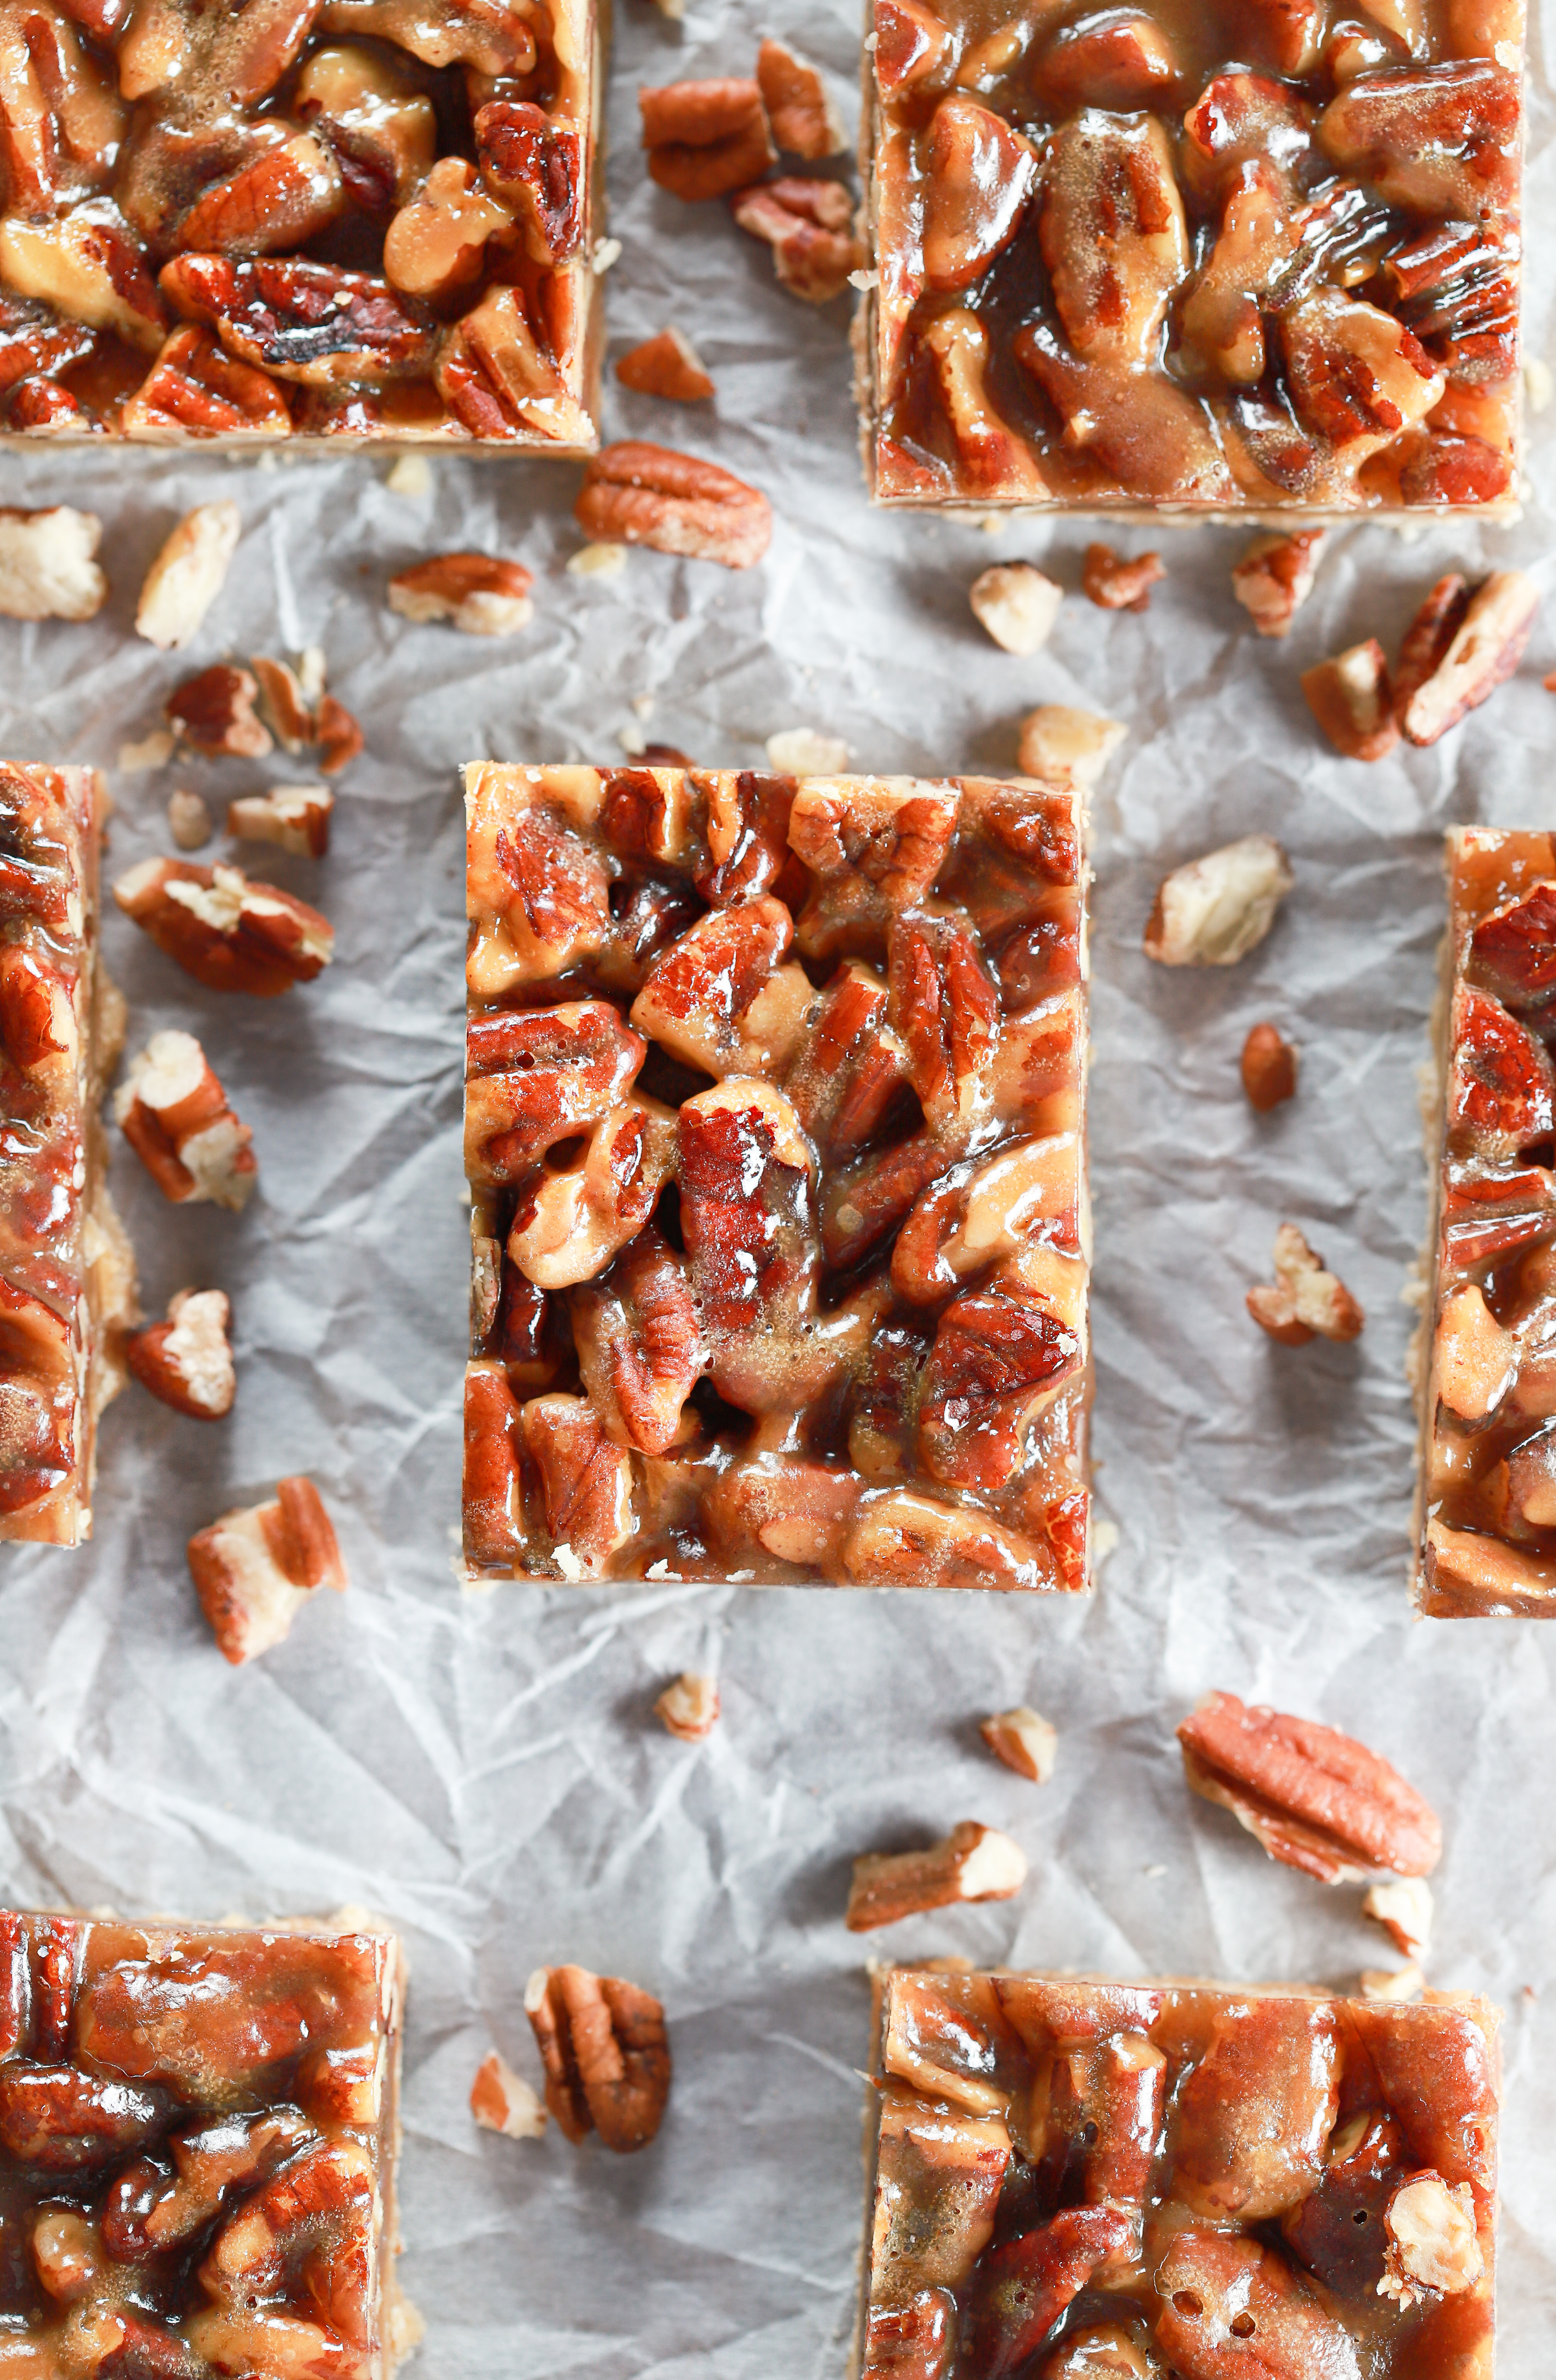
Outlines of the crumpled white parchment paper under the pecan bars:
{"type": "MultiPolygon", "coordinates": [[[[200,992],[117,914],[109,962],[133,1047],[197,1031],[255,1126],[243,1219],[162,1204],[126,1150],[114,1188],[150,1311],[181,1285],[233,1297],[240,1392],[219,1428],[131,1388],[102,1435],[98,1540],[0,1557],[0,1887],[190,1918],[369,1904],[412,1956],[404,2285],[426,2380],[809,2380],[845,2370],[859,2242],[857,2068],[866,1949],[1121,1973],[1299,1975],[1354,1987],[1389,1944],[1356,1892],[1273,1866],[1182,1787],[1173,1723],[1211,1685],[1373,1742],[1437,1804],[1447,1852],[1430,1980],[1506,2009],[1501,2328],[1506,2380],[1556,2330],[1556,1633],[1411,1626],[1411,1438],[1401,1288],[1425,1223],[1425,1057],[1449,821],[1554,823],[1556,605],[1516,683],[1430,752],[1332,757],[1297,674],[1394,643],[1449,566],[1516,562],[1556,593],[1551,426],[1532,424],[1516,526],[1339,536],[1285,645],[1259,640],[1228,566],[1242,536],[1168,531],[1147,616],[1066,602],[1030,662],[966,607],[992,559],[1078,590],[1087,528],[873,516],[849,409],[847,309],[814,314],[723,207],[652,190],[638,81],[749,71],[749,0],[680,29],[628,0],[609,119],[611,355],[680,324],[719,383],[697,412],[609,395],[611,436],[704,452],[768,490],[773,550],[728,576],[638,552],[566,576],[573,466],[433,462],[397,495],[357,455],[288,464],[0,457],[5,502],[88,505],[114,581],[90,626],[0,621],[0,747],[90,759],[119,800],[109,866],[167,850],[164,802],[300,766],[121,776],[124,740],[221,652],[324,645],[364,719],[324,864],[247,850],[338,926],[338,964],[281,1002],[200,992]],[[243,545],[188,654],[131,633],[171,521],[231,493],[243,545]],[[507,645],[412,628],[388,571],[452,545],[538,574],[507,645]],[[619,731],[749,766],[776,728],[845,735],[878,771],[1014,766],[1040,700],[1128,721],[1097,802],[1097,1488],[1118,1545],[1094,1602],[740,1587],[464,1592],[454,1580],[466,1211],[459,1176],[462,809],[457,764],[614,759],[619,731]],[[650,716],[652,704],[652,716],[650,716]],[[1235,971],[1140,954],[1166,866],[1273,828],[1297,890],[1235,971]],[[1299,1097],[1254,1119],[1249,1023],[1301,1045],[1299,1097]],[[1356,1347],[1287,1352],[1242,1309],[1275,1223],[1301,1221],[1368,1311],[1356,1347]],[[183,1566],[186,1535],[307,1468],[340,1523],[350,1592],[231,1671],[183,1566]],[[680,1668],[719,1668],[704,1747],[652,1721],[680,1668]],[[1054,1783],[999,1768],[978,1721],[1033,1702],[1054,1783]],[[1009,1828],[1014,1904],[842,1930],[852,1854],[1009,1828]],[[538,2078],[526,1973],[581,1959],[666,2002],[676,2087],[652,2149],[614,2159],[476,2132],[495,2042],[538,2078]]],[[[847,93],[852,10],[780,31],[847,93]]],[[[1535,26],[1530,336],[1546,355],[1556,155],[1535,26]]],[[[1140,550],[1152,543],[1125,533],[1140,550]]],[[[209,854],[207,854],[209,857],[209,854]]]]}

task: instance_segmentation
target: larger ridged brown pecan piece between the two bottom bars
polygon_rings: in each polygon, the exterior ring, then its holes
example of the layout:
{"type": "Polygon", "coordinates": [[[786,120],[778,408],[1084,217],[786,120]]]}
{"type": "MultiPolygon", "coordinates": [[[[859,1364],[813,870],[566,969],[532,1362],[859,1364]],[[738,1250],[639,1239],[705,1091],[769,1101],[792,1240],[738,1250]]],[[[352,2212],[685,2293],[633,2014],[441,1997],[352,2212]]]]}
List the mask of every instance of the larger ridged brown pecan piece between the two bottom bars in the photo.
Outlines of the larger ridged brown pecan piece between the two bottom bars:
{"type": "Polygon", "coordinates": [[[569,2140],[600,2132],[607,2149],[645,2149],[671,2094],[671,2044],[661,2004],[621,1975],[585,1966],[538,1966],[523,1987],[545,2104],[569,2140]]]}

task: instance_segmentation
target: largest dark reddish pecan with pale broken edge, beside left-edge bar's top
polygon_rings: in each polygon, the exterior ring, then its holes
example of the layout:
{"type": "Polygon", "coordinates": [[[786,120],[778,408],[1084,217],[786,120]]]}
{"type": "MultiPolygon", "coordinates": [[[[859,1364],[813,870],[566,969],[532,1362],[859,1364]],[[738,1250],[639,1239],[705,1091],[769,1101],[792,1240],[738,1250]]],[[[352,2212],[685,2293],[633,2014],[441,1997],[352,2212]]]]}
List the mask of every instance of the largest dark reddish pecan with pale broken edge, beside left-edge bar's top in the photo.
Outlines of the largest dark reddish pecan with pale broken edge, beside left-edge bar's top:
{"type": "Polygon", "coordinates": [[[274,1000],[293,983],[312,983],[335,957],[328,919],[278,885],[250,883],[240,869],[143,859],[117,881],[114,900],[212,992],[274,1000]]]}

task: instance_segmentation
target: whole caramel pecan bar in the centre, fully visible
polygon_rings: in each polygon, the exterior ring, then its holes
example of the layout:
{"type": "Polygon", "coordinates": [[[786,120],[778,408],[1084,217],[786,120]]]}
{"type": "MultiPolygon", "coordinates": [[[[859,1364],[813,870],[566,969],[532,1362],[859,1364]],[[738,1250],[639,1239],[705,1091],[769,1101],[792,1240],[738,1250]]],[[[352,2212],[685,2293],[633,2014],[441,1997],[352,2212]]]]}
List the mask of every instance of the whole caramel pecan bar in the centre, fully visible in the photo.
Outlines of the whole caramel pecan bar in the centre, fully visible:
{"type": "Polygon", "coordinates": [[[1085,1587],[1073,783],[466,788],[469,1566],[1085,1587]]]}

